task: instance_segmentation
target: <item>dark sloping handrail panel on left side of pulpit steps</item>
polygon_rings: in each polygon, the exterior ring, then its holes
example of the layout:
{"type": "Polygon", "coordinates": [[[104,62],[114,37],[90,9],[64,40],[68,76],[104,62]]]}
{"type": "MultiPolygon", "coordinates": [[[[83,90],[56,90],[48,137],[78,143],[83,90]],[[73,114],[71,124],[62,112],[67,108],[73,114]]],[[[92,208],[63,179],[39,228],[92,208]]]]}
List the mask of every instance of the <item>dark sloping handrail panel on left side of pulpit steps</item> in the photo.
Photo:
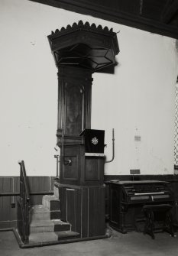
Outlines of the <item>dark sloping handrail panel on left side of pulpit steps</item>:
{"type": "Polygon", "coordinates": [[[18,162],[21,166],[20,174],[20,198],[18,200],[18,233],[21,241],[27,244],[29,239],[29,210],[30,210],[30,191],[28,186],[28,178],[24,167],[24,160],[18,162]]]}

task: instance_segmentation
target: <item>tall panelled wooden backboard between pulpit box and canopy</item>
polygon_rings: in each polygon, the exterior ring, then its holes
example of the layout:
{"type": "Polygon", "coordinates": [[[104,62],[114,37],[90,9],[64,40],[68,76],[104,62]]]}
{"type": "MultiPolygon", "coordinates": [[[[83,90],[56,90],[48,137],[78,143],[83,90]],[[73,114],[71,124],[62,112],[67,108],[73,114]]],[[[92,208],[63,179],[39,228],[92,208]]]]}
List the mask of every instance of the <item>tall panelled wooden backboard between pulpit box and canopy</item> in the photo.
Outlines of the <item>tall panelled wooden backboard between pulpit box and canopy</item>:
{"type": "Polygon", "coordinates": [[[79,134],[91,128],[92,71],[58,66],[57,144],[81,143],[79,134]]]}

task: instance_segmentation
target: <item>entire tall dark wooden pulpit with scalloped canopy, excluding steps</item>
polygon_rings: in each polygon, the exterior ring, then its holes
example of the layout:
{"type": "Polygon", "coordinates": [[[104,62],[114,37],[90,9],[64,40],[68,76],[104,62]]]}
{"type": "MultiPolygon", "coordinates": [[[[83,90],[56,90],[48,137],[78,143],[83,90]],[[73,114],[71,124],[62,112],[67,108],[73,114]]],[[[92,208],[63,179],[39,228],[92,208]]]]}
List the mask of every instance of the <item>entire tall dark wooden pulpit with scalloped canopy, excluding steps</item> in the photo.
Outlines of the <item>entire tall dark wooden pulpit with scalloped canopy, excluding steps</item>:
{"type": "Polygon", "coordinates": [[[105,235],[104,131],[91,130],[92,73],[115,66],[117,36],[107,27],[79,21],[52,32],[48,40],[59,81],[60,177],[54,185],[61,219],[81,238],[105,235]],[[96,151],[87,149],[90,135],[93,144],[102,141],[96,151]]]}

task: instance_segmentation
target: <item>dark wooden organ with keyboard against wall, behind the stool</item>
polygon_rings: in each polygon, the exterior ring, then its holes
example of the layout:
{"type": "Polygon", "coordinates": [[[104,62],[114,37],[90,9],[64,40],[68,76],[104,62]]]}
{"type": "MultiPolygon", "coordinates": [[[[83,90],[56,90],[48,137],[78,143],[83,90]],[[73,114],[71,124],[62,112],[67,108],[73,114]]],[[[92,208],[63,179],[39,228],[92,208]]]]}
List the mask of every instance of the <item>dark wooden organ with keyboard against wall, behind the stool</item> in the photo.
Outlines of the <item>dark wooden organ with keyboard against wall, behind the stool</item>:
{"type": "Polygon", "coordinates": [[[137,229],[148,204],[173,204],[169,183],[160,180],[119,181],[109,183],[109,224],[122,233],[137,229]]]}

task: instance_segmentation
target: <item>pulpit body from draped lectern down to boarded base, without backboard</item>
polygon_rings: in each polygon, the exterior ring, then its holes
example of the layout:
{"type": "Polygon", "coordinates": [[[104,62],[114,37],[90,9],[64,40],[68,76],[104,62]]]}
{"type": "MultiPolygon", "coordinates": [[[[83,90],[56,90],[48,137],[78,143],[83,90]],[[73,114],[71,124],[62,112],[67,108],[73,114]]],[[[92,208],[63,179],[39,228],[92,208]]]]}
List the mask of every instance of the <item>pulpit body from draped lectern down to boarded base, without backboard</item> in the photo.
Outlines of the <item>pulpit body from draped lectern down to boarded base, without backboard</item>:
{"type": "Polygon", "coordinates": [[[87,129],[81,144],[62,144],[59,188],[61,219],[81,237],[105,235],[104,131],[87,129]]]}

